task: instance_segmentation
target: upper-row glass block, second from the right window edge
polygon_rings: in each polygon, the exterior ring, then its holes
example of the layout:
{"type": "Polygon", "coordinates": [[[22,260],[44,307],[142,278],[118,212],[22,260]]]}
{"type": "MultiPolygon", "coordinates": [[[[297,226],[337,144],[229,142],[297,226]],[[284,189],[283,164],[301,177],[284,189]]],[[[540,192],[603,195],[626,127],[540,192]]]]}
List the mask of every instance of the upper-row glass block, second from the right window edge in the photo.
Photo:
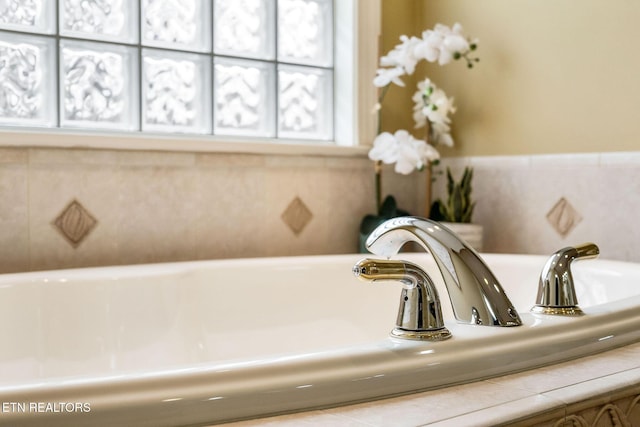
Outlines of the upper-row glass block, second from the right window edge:
{"type": "Polygon", "coordinates": [[[275,0],[215,0],[213,7],[215,53],[275,58],[275,0]]]}

